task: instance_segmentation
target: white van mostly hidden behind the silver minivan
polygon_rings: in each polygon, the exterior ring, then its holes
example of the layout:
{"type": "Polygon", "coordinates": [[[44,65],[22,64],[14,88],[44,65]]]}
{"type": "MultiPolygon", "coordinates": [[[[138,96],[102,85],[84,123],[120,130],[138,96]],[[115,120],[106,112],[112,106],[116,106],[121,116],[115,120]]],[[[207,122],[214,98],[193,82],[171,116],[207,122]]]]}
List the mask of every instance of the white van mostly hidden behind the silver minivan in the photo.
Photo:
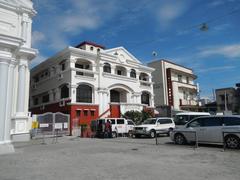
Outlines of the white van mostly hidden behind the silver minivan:
{"type": "Polygon", "coordinates": [[[201,116],[210,116],[210,113],[208,112],[181,112],[177,113],[174,116],[174,122],[176,126],[183,126],[192,119],[196,117],[201,117],[201,116]]]}

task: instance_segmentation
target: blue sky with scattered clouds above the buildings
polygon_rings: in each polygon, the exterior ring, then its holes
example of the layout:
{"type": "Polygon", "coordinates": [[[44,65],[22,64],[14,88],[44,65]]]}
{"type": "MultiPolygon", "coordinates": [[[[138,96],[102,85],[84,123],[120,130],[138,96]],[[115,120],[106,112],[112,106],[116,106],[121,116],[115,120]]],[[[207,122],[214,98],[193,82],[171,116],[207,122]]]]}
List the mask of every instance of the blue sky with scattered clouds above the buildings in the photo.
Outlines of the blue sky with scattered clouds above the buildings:
{"type": "Polygon", "coordinates": [[[33,0],[32,67],[88,40],[190,67],[201,96],[240,82],[240,0],[33,0]],[[199,25],[207,22],[208,31],[199,25]],[[152,52],[157,52],[153,57],[152,52]]]}

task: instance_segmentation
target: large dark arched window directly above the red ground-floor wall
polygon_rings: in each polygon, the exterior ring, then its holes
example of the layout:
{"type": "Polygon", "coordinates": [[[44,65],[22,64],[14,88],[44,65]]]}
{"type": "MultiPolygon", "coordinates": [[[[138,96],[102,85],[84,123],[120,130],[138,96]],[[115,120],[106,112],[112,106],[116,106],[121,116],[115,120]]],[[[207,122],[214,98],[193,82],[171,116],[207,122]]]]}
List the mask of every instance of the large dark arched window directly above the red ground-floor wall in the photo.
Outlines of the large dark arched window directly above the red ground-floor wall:
{"type": "Polygon", "coordinates": [[[81,84],[77,87],[77,102],[92,103],[92,87],[81,84]]]}

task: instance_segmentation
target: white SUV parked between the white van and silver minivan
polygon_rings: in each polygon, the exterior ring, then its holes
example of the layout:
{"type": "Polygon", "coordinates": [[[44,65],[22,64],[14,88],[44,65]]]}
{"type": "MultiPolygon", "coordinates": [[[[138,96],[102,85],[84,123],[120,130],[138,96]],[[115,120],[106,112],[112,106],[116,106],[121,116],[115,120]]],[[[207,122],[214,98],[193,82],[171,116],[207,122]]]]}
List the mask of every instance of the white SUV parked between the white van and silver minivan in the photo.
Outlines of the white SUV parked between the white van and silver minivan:
{"type": "Polygon", "coordinates": [[[135,137],[144,135],[154,138],[157,134],[169,134],[174,128],[175,124],[172,118],[149,118],[145,120],[142,125],[133,128],[133,135],[135,137]]]}

